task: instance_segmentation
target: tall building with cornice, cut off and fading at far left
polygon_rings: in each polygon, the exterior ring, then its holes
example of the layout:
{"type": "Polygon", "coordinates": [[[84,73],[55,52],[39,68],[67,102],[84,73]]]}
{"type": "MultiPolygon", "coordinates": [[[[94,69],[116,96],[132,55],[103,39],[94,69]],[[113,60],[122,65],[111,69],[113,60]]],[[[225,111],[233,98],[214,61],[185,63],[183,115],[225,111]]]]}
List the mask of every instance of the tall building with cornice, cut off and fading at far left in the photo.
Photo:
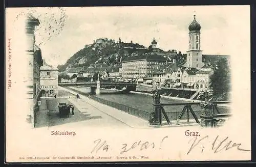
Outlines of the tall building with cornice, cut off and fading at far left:
{"type": "Polygon", "coordinates": [[[28,75],[24,82],[27,84],[27,95],[30,110],[26,115],[26,120],[34,127],[36,122],[36,114],[39,110],[37,102],[40,98],[40,67],[42,66],[41,50],[35,45],[35,26],[40,24],[39,20],[28,14],[26,22],[26,50],[27,54],[27,71],[28,75]]]}

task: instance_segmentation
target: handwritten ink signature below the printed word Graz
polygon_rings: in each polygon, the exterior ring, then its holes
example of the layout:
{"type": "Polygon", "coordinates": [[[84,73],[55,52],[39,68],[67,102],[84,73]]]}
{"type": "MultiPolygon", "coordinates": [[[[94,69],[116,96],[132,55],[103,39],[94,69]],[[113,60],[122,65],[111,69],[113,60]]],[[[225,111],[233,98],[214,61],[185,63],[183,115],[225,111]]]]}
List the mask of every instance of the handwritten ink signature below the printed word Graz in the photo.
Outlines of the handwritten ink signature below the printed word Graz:
{"type": "MultiPolygon", "coordinates": [[[[194,142],[192,143],[192,145],[190,146],[190,148],[189,148],[189,150],[188,150],[188,152],[187,152],[187,155],[188,155],[196,146],[198,146],[199,144],[202,144],[202,141],[205,141],[206,138],[209,138],[209,136],[206,135],[206,136],[200,138],[199,140],[198,140],[198,136],[196,136],[194,142]]],[[[211,144],[211,146],[212,146],[212,147],[211,147],[211,150],[213,150],[214,153],[218,153],[218,152],[220,152],[220,151],[222,151],[222,150],[229,150],[229,149],[234,148],[234,147],[236,147],[237,150],[239,150],[239,151],[251,151],[251,150],[246,150],[246,149],[241,148],[241,145],[242,145],[241,143],[234,143],[234,142],[231,141],[231,140],[228,142],[228,137],[224,138],[221,142],[218,143],[218,142],[217,142],[218,138],[219,138],[219,135],[217,135],[217,137],[215,138],[214,142],[211,144]]],[[[189,142],[190,142],[190,141],[189,141],[189,142]]],[[[201,152],[203,152],[203,151],[204,151],[204,147],[203,147],[203,149],[201,150],[201,152]]]]}

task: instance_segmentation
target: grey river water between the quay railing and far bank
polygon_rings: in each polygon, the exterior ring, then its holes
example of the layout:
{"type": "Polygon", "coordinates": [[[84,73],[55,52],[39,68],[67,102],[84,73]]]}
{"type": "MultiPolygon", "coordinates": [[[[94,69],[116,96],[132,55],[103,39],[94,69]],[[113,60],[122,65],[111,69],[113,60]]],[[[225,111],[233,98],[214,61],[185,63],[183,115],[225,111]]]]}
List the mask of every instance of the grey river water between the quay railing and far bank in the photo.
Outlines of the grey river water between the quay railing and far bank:
{"type": "MultiPolygon", "coordinates": [[[[90,93],[91,89],[87,87],[74,87],[75,89],[84,92],[90,93]]],[[[137,108],[140,110],[144,110],[146,112],[152,112],[154,110],[153,99],[152,96],[128,93],[128,94],[114,94],[114,90],[100,90],[98,97],[113,101],[119,104],[127,105],[133,108],[137,108]]],[[[161,103],[186,103],[187,101],[183,100],[174,100],[174,99],[166,99],[161,98],[161,103]]],[[[165,112],[177,112],[179,114],[182,112],[184,105],[176,105],[176,106],[164,106],[165,112]]],[[[200,106],[195,104],[191,105],[194,111],[199,111],[200,106]]],[[[228,107],[218,106],[218,109],[221,113],[227,113],[229,111],[228,107]]]]}

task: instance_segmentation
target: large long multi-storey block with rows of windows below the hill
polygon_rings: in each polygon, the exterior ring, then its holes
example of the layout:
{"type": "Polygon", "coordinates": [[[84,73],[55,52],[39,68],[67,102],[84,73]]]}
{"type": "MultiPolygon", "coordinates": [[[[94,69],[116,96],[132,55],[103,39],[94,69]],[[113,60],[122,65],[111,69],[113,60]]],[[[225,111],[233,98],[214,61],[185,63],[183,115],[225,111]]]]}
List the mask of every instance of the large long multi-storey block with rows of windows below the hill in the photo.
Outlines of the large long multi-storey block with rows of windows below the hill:
{"type": "Polygon", "coordinates": [[[166,61],[166,58],[157,54],[141,54],[127,57],[122,60],[122,78],[140,79],[152,77],[152,74],[160,66],[167,63],[166,61]]]}

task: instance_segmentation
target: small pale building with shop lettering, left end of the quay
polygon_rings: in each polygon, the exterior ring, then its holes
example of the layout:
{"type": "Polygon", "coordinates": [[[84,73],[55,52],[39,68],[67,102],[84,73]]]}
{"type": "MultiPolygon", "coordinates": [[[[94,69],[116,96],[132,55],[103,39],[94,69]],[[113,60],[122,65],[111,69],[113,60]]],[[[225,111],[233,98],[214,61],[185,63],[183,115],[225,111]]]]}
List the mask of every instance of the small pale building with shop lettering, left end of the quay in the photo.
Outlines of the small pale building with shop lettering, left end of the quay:
{"type": "Polygon", "coordinates": [[[58,95],[58,69],[48,65],[43,60],[40,68],[41,97],[53,97],[58,95]]]}

